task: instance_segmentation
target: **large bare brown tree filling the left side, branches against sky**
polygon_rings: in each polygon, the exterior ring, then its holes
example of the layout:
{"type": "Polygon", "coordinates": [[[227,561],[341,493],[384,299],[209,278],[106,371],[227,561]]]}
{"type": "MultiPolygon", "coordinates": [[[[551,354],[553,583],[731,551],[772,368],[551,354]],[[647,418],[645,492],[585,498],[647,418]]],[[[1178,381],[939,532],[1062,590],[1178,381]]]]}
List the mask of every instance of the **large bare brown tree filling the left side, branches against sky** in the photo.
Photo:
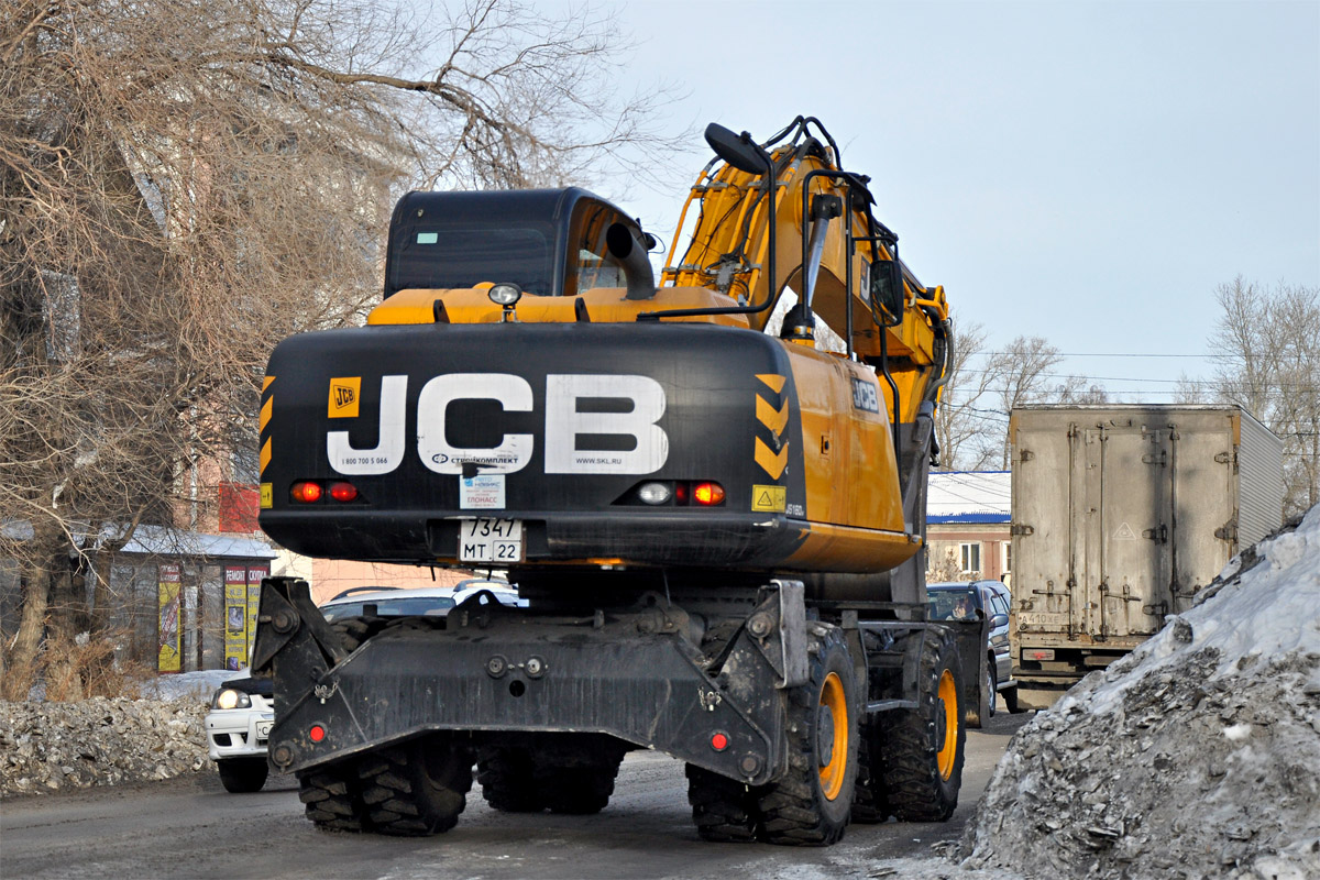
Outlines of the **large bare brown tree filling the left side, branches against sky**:
{"type": "Polygon", "coordinates": [[[511,0],[7,4],[0,558],[26,588],[4,695],[48,625],[87,623],[77,579],[104,596],[104,553],[251,442],[269,347],[359,319],[401,187],[665,145],[651,98],[616,98],[620,47],[607,17],[511,0]]]}

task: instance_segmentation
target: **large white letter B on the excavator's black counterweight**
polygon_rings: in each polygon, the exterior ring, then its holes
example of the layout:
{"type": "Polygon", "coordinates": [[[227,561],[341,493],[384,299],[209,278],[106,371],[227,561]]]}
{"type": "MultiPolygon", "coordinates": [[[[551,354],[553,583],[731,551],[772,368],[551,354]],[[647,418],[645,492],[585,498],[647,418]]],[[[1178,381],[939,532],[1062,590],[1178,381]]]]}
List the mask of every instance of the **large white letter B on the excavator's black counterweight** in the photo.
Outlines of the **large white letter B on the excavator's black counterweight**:
{"type": "Polygon", "coordinates": [[[669,437],[657,421],[664,416],[664,387],[648,376],[545,377],[546,474],[653,474],[669,458],[669,437]],[[579,413],[578,398],[632,401],[627,413],[579,413]],[[579,450],[578,434],[631,437],[627,451],[579,450]]]}

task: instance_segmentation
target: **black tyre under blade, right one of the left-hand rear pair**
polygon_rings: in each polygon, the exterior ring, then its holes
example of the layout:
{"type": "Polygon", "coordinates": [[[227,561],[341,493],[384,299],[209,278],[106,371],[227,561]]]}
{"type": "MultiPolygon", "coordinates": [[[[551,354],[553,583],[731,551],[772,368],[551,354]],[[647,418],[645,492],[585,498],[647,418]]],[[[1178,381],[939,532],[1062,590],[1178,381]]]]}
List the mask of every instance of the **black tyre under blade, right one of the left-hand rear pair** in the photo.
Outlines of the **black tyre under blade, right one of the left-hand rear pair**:
{"type": "Polygon", "coordinates": [[[446,735],[378,749],[358,768],[371,826],[381,834],[428,836],[458,823],[473,788],[473,752],[446,735]]]}

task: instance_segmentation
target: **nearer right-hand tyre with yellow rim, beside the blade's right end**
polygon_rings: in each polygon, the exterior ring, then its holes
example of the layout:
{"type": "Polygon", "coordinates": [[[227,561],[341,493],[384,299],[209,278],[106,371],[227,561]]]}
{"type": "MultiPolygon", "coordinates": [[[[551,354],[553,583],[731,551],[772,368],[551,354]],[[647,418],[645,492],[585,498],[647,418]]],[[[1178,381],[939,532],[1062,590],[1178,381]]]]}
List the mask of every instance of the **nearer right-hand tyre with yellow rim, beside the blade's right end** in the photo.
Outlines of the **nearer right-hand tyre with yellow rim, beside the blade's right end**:
{"type": "Polygon", "coordinates": [[[788,773],[756,789],[759,836],[780,846],[829,846],[853,813],[861,699],[838,627],[813,624],[808,683],[787,694],[788,773]],[[842,718],[840,718],[842,715],[842,718]]]}

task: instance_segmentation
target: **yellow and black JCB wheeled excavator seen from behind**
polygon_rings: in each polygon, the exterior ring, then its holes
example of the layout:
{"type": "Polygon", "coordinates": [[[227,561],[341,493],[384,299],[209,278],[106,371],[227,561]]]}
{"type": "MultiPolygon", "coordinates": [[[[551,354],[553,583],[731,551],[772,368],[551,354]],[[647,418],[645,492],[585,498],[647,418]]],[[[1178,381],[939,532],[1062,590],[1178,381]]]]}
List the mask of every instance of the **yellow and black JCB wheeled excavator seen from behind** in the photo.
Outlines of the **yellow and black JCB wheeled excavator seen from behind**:
{"type": "Polygon", "coordinates": [[[444,831],[474,765],[496,809],[594,813],[635,748],[686,763],[711,840],[953,811],[978,679],[925,619],[944,292],[817,120],[706,140],[660,286],[583,190],[409,193],[368,325],[272,355],[271,537],[525,606],[330,625],[264,583],[271,763],[318,826],[444,831]]]}

